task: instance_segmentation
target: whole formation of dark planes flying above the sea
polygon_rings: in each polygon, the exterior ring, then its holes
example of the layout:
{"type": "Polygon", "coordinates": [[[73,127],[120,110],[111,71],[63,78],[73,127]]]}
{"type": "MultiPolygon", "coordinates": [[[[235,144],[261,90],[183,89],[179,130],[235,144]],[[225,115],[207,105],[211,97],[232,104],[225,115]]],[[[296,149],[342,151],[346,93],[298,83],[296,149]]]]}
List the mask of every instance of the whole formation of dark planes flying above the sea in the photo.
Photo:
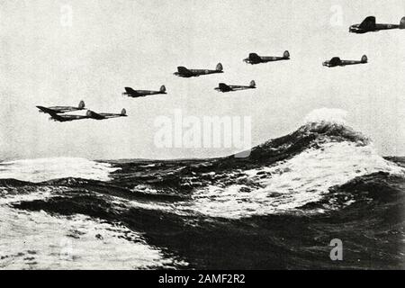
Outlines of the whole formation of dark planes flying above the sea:
{"type": "MultiPolygon", "coordinates": [[[[368,16],[362,23],[353,24],[349,27],[349,32],[357,33],[357,34],[364,34],[367,32],[376,32],[376,31],[383,31],[383,30],[392,30],[392,29],[405,29],[405,17],[401,19],[399,24],[381,24],[376,23],[374,16],[368,16]]],[[[244,62],[250,65],[257,65],[263,64],[268,62],[275,62],[275,61],[283,61],[283,60],[290,60],[290,52],[285,50],[283,56],[275,57],[275,56],[259,56],[257,53],[249,53],[248,57],[243,59],[244,62]]],[[[322,63],[324,67],[345,67],[348,65],[362,65],[368,63],[368,58],[366,55],[360,60],[342,60],[339,57],[331,58],[330,60],[326,60],[322,63]]],[[[222,74],[224,73],[223,67],[221,63],[218,63],[215,69],[191,69],[186,68],[183,66],[177,67],[177,71],[174,73],[175,76],[190,78],[190,77],[197,77],[197,76],[206,76],[211,74],[222,74]]],[[[157,94],[167,94],[166,93],[166,86],[161,85],[158,91],[153,90],[134,90],[131,87],[125,87],[125,92],[122,93],[128,97],[132,98],[139,98],[145,97],[149,95],[157,95],[157,94]]],[[[249,85],[227,85],[225,83],[219,83],[218,87],[214,88],[216,91],[221,93],[228,93],[228,92],[235,92],[241,90],[248,90],[248,89],[256,89],[256,82],[252,80],[249,85]]],[[[83,119],[93,119],[93,120],[106,120],[112,118],[119,118],[119,117],[127,117],[127,112],[125,109],[122,109],[121,113],[106,113],[106,112],[94,112],[91,110],[87,110],[85,115],[72,115],[67,114],[67,112],[76,112],[85,110],[85,102],[81,101],[77,107],[72,106],[51,106],[51,107],[43,107],[37,106],[40,112],[48,113],[50,116],[50,120],[53,121],[76,121],[76,120],[83,120],[83,119]]]]}

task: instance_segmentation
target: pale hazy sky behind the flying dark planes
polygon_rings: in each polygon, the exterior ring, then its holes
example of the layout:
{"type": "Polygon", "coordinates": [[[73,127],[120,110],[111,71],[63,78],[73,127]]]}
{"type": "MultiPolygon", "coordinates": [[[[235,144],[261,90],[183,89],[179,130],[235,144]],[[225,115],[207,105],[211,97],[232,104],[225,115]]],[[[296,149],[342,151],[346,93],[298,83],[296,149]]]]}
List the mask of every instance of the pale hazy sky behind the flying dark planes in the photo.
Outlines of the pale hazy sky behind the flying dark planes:
{"type": "Polygon", "coordinates": [[[399,1],[1,1],[0,159],[217,157],[229,148],[158,148],[157,116],[250,116],[252,145],[298,128],[314,109],[348,112],[382,155],[405,155],[405,31],[351,34],[375,15],[400,23],[399,1]],[[71,9],[71,25],[69,13],[71,9]],[[249,66],[249,52],[291,61],[249,66]],[[322,67],[340,56],[369,64],[322,67]],[[177,66],[224,74],[184,79],[177,66]],[[257,90],[219,94],[219,82],[257,90]],[[124,86],[168,94],[131,99],[124,86]],[[125,119],[58,123],[35,105],[76,105],[125,119]]]}

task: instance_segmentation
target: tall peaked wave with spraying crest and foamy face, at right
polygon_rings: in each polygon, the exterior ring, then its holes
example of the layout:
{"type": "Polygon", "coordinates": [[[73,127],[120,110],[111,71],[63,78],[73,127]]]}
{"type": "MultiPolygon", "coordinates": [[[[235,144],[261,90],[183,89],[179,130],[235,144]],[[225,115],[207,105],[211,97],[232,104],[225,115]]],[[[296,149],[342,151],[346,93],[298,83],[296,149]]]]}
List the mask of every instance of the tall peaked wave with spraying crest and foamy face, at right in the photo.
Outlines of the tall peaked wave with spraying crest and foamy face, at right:
{"type": "Polygon", "coordinates": [[[232,181],[195,189],[193,203],[184,208],[223,218],[300,211],[356,177],[405,176],[404,168],[378,155],[370,139],[347,126],[346,116],[339,109],[311,112],[298,130],[252,148],[245,168],[232,169],[238,161],[232,157],[220,159],[232,181]]]}

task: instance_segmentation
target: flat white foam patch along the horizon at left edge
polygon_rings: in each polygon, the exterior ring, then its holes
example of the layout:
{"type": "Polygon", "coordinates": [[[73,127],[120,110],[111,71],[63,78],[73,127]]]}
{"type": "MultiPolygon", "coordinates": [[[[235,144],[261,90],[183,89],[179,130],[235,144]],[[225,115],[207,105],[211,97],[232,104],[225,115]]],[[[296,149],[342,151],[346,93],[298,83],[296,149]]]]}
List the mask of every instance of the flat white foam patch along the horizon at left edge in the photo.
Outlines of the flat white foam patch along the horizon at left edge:
{"type": "Polygon", "coordinates": [[[58,178],[110,180],[110,173],[119,168],[80,157],[52,157],[15,160],[0,163],[0,179],[42,182],[58,178]]]}

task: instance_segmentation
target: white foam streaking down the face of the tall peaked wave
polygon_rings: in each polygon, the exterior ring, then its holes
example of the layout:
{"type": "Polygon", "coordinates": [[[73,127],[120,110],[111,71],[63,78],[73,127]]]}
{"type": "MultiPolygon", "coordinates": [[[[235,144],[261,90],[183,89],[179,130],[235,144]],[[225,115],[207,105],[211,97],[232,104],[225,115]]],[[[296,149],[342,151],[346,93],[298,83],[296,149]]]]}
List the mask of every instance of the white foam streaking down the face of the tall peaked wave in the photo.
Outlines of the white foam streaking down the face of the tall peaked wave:
{"type": "Polygon", "coordinates": [[[262,188],[248,191],[243,184],[209,186],[193,194],[193,204],[187,209],[224,218],[293,211],[320,201],[332,186],[379,171],[405,176],[403,168],[384,160],[372,146],[325,143],[275,166],[245,171],[244,178],[262,188]],[[269,176],[262,177],[263,173],[269,176]]]}

